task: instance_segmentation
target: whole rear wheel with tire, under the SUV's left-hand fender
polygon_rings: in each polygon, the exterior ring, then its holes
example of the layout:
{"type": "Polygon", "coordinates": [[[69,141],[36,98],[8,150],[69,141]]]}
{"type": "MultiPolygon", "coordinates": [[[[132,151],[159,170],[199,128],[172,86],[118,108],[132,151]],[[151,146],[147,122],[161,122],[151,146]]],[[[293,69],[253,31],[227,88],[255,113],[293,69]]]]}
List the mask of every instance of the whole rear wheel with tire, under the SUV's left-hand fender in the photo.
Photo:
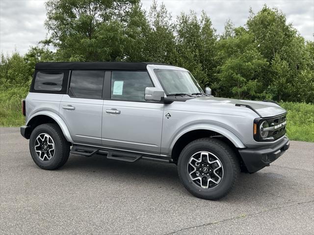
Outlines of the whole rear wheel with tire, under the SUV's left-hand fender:
{"type": "Polygon", "coordinates": [[[29,150],[33,161],[40,168],[53,170],[67,162],[70,143],[57,124],[42,124],[32,131],[29,150]]]}

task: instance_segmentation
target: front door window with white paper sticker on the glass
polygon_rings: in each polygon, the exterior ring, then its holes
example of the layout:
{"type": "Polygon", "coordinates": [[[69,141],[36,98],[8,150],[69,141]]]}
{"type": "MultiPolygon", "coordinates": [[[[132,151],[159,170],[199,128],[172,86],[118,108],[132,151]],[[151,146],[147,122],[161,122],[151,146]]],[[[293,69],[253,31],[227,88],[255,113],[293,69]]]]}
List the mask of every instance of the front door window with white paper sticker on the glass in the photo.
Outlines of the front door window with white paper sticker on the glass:
{"type": "Polygon", "coordinates": [[[147,71],[112,71],[111,99],[145,101],[146,87],[154,87],[147,71]]]}

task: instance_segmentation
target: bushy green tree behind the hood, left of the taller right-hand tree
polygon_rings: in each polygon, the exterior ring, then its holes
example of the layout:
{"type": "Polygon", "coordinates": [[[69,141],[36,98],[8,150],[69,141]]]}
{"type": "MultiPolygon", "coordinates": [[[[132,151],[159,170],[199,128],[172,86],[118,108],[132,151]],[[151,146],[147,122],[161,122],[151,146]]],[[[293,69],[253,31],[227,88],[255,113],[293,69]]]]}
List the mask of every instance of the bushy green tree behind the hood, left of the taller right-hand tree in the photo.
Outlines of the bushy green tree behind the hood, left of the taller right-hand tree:
{"type": "Polygon", "coordinates": [[[220,94],[236,98],[259,98],[262,74],[268,62],[258,51],[254,36],[239,27],[235,37],[221,39],[218,45],[220,94]]]}

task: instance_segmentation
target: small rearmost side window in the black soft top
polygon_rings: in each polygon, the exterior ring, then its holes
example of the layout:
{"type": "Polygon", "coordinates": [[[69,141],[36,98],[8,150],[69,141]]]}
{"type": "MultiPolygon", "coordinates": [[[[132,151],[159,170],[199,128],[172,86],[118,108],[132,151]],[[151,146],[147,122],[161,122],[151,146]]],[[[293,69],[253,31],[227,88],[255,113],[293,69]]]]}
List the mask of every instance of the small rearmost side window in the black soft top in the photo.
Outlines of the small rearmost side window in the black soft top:
{"type": "Polygon", "coordinates": [[[64,72],[42,72],[36,73],[34,90],[37,91],[55,91],[62,89],[64,72]]]}

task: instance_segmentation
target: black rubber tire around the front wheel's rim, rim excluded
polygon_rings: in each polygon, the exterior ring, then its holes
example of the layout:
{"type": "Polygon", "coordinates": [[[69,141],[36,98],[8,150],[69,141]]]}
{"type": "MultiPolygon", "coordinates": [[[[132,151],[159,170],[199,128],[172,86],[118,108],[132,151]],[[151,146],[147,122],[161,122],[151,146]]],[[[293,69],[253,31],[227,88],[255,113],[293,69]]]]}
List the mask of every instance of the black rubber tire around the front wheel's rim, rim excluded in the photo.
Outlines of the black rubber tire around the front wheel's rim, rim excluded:
{"type": "Polygon", "coordinates": [[[210,141],[195,142],[186,146],[180,154],[178,171],[184,187],[197,197],[205,199],[218,199],[224,196],[232,187],[233,179],[235,177],[228,152],[224,151],[224,149],[222,149],[219,145],[210,141]],[[223,177],[221,182],[214,188],[206,189],[197,186],[188,174],[187,166],[191,156],[201,151],[214,154],[222,164],[223,177]]]}

